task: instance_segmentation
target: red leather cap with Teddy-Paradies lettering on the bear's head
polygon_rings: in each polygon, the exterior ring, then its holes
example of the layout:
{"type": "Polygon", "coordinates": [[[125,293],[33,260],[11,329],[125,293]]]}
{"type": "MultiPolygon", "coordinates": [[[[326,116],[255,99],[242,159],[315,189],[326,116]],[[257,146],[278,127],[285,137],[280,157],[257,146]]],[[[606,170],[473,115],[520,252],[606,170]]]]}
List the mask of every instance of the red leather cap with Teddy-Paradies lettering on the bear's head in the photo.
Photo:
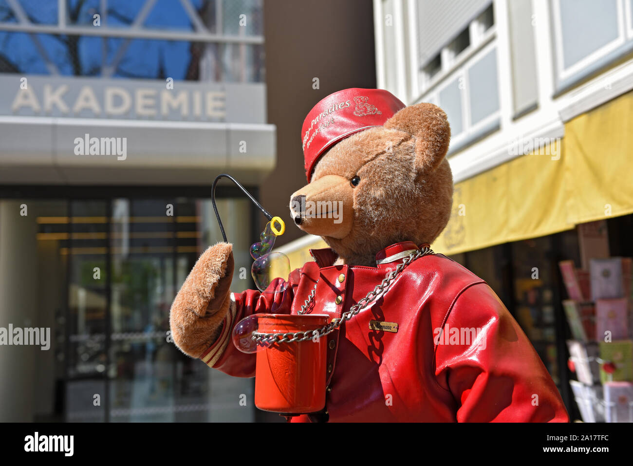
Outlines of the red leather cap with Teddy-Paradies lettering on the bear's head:
{"type": "Polygon", "coordinates": [[[382,126],[405,105],[384,89],[343,89],[314,106],[301,128],[306,177],[310,182],[318,158],[354,133],[382,126]]]}

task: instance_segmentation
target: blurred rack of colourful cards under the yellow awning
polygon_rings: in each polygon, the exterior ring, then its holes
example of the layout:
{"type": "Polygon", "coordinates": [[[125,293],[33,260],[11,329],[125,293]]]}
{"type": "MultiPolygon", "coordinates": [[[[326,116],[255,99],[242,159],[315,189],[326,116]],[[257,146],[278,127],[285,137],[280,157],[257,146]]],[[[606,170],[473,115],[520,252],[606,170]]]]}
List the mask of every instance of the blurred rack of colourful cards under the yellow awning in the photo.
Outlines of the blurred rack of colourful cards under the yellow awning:
{"type": "Polygon", "coordinates": [[[573,396],[584,422],[632,422],[631,258],[587,258],[589,271],[560,261],[573,396]],[[590,291],[590,293],[589,293],[590,291]]]}

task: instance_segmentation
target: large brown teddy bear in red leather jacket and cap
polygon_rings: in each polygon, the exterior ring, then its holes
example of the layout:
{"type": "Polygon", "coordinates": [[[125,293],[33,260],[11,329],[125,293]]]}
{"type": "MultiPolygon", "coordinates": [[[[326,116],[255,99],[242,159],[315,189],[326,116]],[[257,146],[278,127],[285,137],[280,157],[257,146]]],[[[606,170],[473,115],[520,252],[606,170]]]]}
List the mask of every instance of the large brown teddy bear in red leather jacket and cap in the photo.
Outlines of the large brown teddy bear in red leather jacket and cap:
{"type": "Polygon", "coordinates": [[[342,323],[327,335],[325,407],[292,422],[568,422],[491,287],[430,249],[453,203],[446,113],[382,89],[344,89],[308,113],[301,142],[308,183],[289,198],[291,218],[330,247],[311,249],[314,261],[291,272],[285,293],[231,293],[232,244],[210,246],[173,301],[175,344],[253,377],[255,355],[231,341],[236,322],[272,310],[326,314],[342,323]]]}

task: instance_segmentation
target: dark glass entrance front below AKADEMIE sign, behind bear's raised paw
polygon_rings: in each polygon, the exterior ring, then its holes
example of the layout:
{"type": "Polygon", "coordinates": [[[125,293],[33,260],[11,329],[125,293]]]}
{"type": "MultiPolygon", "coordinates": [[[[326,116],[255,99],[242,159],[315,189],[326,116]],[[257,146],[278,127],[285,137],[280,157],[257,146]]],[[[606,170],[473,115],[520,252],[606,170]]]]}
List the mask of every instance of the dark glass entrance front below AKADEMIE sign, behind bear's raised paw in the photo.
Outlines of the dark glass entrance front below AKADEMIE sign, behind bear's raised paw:
{"type": "MultiPolygon", "coordinates": [[[[218,198],[217,205],[234,244],[231,291],[252,289],[252,205],[244,198],[218,198]]],[[[213,370],[167,340],[177,291],[199,254],[222,241],[210,199],[73,199],[37,206],[37,260],[46,275],[39,303],[56,342],[37,396],[59,411],[57,419],[255,420],[253,379],[213,370]],[[55,395],[43,388],[55,383],[55,395]],[[251,400],[246,408],[241,394],[251,400]]]]}

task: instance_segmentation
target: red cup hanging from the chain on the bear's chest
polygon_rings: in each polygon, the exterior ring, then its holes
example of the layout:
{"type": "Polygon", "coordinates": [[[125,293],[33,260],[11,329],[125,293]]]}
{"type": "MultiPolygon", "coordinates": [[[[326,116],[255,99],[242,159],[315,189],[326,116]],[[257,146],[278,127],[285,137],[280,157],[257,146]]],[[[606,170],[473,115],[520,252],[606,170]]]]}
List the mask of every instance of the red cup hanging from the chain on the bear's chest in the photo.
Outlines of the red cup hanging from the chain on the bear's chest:
{"type": "MultiPolygon", "coordinates": [[[[258,332],[289,333],[316,330],[327,314],[263,314],[258,332]]],[[[313,413],[325,406],[327,338],[273,343],[257,353],[255,406],[275,413],[313,413]]]]}

